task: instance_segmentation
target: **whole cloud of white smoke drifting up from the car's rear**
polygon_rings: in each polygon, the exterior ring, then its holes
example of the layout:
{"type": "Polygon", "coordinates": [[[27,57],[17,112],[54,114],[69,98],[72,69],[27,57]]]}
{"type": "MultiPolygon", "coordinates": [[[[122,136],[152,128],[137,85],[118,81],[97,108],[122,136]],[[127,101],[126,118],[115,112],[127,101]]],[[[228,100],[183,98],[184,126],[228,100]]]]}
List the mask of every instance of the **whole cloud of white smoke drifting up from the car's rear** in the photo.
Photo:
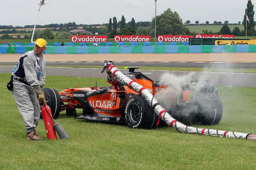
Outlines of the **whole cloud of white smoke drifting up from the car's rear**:
{"type": "MultiPolygon", "coordinates": [[[[242,77],[242,74],[234,73],[235,65],[232,64],[232,62],[236,62],[236,60],[234,60],[232,56],[233,54],[212,54],[212,58],[208,58],[208,61],[219,60],[224,62],[213,62],[211,64],[208,64],[207,67],[203,68],[202,72],[184,72],[184,74],[182,75],[180,75],[180,72],[165,72],[163,75],[161,75],[159,80],[162,84],[166,84],[166,82],[169,82],[170,84],[172,84],[172,86],[168,87],[165,90],[157,92],[155,94],[157,101],[167,111],[174,110],[177,111],[177,114],[187,115],[191,113],[195,115],[198,111],[200,113],[203,113],[205,117],[212,117],[212,115],[218,116],[218,114],[220,115],[222,113],[222,104],[221,100],[219,99],[219,95],[221,95],[219,94],[219,91],[218,98],[208,98],[208,92],[212,92],[212,90],[207,91],[207,89],[202,88],[203,84],[197,84],[196,86],[193,86],[193,89],[195,91],[198,91],[198,93],[190,93],[191,95],[189,96],[189,101],[183,102],[182,93],[184,89],[182,88],[182,85],[184,85],[184,83],[188,81],[208,80],[209,85],[216,86],[215,88],[217,88],[218,85],[245,86],[244,82],[251,82],[251,80],[248,80],[249,78],[242,77]],[[198,98],[198,96],[200,97],[198,98]],[[179,107],[179,103],[181,102],[183,102],[182,105],[188,107],[179,107]],[[189,104],[192,104],[192,107],[189,107],[189,104]],[[197,106],[198,108],[196,108],[197,106]]],[[[239,98],[240,94],[236,93],[232,95],[238,96],[239,98]]],[[[170,114],[172,115],[172,113],[170,114]]]]}

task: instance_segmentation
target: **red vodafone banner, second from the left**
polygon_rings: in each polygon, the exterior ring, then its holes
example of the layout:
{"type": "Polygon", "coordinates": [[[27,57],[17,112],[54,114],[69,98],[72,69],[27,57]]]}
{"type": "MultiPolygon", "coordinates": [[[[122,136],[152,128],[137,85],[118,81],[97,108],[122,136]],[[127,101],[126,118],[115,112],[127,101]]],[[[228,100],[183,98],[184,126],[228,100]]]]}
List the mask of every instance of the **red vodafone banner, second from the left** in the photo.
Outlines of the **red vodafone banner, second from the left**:
{"type": "Polygon", "coordinates": [[[151,36],[148,35],[115,35],[115,42],[151,42],[151,36]]]}

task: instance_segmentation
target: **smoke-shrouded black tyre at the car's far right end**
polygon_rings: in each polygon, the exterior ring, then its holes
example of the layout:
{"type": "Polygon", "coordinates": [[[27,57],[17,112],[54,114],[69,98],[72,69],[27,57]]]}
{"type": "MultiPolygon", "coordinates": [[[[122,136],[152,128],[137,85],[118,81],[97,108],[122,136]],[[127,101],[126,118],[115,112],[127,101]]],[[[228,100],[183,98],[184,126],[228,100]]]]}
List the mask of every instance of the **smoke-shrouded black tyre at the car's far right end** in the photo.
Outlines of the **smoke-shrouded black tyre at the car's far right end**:
{"type": "Polygon", "coordinates": [[[216,99],[191,98],[194,107],[192,123],[199,125],[216,125],[220,122],[223,113],[222,102],[216,99]]]}

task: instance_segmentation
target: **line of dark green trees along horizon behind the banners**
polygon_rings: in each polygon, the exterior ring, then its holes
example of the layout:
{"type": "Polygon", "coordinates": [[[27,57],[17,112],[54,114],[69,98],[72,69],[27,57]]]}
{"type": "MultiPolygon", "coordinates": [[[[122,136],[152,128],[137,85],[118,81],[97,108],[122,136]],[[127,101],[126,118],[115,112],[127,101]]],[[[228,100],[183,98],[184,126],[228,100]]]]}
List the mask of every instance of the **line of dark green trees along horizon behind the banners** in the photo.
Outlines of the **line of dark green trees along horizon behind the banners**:
{"type": "MultiPolygon", "coordinates": [[[[255,21],[254,21],[254,5],[251,3],[251,0],[247,2],[247,8],[245,9],[245,14],[243,16],[242,25],[244,30],[240,30],[238,27],[234,27],[231,31],[228,27],[228,21],[224,21],[222,24],[221,21],[214,21],[214,25],[223,25],[219,32],[214,33],[208,30],[203,30],[202,34],[233,34],[235,36],[244,36],[246,25],[247,25],[247,35],[256,36],[255,31],[255,21]],[[248,18],[247,18],[248,17],[248,18]]],[[[154,36],[155,30],[155,19],[156,19],[156,30],[158,35],[195,35],[195,32],[190,32],[186,25],[183,24],[182,19],[180,18],[177,12],[173,12],[169,8],[165,10],[162,14],[153,17],[152,21],[140,21],[136,22],[134,18],[131,21],[126,23],[124,15],[122,15],[121,20],[117,21],[117,17],[109,19],[109,23],[104,23],[102,25],[77,25],[75,22],[68,23],[52,23],[45,26],[36,26],[37,28],[48,28],[42,31],[35,32],[35,38],[46,38],[46,39],[69,39],[70,30],[77,29],[82,27],[84,30],[91,32],[92,34],[98,33],[98,35],[108,35],[109,38],[113,38],[114,35],[150,35],[154,36]],[[101,26],[101,27],[96,27],[101,26]],[[50,29],[49,29],[50,28],[50,29]]],[[[188,21],[186,21],[188,23],[188,21]]],[[[196,21],[199,23],[199,21],[196,21]]],[[[208,21],[205,22],[206,25],[209,24],[208,21]]],[[[24,26],[26,28],[33,26],[24,26]]],[[[1,39],[12,39],[12,36],[9,36],[7,33],[21,33],[20,31],[15,30],[12,26],[0,26],[0,29],[3,30],[4,34],[1,39]]],[[[25,31],[24,31],[25,32],[25,31]]],[[[30,32],[27,32],[30,33],[30,32]]],[[[79,33],[79,35],[84,35],[84,33],[79,33]]],[[[31,37],[31,35],[30,35],[31,37]]],[[[20,37],[17,37],[20,38],[20,37]]],[[[28,38],[28,35],[24,37],[28,38]]]]}

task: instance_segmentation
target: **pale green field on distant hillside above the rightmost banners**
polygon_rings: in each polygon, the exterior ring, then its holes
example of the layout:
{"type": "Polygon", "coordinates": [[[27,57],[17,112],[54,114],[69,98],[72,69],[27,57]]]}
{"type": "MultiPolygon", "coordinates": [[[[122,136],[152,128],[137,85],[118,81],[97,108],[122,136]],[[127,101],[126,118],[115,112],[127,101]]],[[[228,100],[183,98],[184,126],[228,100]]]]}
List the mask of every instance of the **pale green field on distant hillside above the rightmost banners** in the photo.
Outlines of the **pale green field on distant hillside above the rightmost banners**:
{"type": "MultiPolygon", "coordinates": [[[[190,32],[202,33],[203,30],[211,31],[212,33],[217,33],[221,30],[223,26],[215,26],[215,25],[198,25],[198,26],[186,26],[190,32]]],[[[228,25],[231,31],[233,31],[234,27],[238,27],[241,30],[244,30],[243,25],[228,25]]]]}

